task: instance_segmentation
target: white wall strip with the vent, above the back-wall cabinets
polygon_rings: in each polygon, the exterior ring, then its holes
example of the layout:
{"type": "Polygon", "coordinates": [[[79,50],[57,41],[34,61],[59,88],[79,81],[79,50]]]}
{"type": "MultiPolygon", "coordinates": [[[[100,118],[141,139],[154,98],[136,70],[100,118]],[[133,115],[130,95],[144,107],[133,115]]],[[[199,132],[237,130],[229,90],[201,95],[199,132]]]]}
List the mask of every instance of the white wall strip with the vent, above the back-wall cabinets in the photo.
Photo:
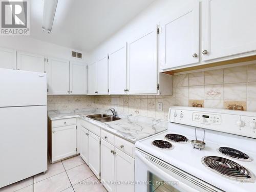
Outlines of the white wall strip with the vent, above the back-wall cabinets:
{"type": "MultiPolygon", "coordinates": [[[[30,36],[0,36],[0,47],[15,49],[17,51],[25,51],[43,56],[51,56],[68,60],[78,60],[71,57],[71,48],[37,40],[30,36]]],[[[79,61],[87,62],[89,58],[88,53],[82,53],[83,60],[79,61]]]]}

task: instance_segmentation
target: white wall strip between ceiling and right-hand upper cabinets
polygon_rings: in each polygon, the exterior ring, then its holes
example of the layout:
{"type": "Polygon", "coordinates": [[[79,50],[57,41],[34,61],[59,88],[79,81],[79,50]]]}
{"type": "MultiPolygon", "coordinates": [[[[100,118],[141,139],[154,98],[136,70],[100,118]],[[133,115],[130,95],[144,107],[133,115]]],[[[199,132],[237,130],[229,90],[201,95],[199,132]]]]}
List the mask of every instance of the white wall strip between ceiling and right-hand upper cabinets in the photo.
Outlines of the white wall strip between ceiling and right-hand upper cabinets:
{"type": "MultiPolygon", "coordinates": [[[[125,41],[143,33],[146,29],[156,26],[159,22],[170,14],[170,10],[180,10],[184,5],[193,0],[156,0],[133,20],[117,31],[109,39],[91,52],[91,62],[100,58],[115,49],[115,46],[123,45],[125,41]]],[[[118,16],[118,15],[117,15],[118,16]]]]}

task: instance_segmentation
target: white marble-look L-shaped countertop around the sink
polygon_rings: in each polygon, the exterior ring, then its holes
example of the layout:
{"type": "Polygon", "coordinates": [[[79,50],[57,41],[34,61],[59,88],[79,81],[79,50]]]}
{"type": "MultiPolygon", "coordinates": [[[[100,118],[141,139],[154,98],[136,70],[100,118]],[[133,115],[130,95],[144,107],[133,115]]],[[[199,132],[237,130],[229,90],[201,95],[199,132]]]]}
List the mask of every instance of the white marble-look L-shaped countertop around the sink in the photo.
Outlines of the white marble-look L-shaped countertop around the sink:
{"type": "Polygon", "coordinates": [[[133,143],[168,129],[168,121],[148,117],[119,115],[121,119],[112,122],[100,122],[86,117],[87,115],[101,113],[106,114],[107,111],[99,109],[48,111],[48,117],[51,120],[80,117],[133,143]]]}

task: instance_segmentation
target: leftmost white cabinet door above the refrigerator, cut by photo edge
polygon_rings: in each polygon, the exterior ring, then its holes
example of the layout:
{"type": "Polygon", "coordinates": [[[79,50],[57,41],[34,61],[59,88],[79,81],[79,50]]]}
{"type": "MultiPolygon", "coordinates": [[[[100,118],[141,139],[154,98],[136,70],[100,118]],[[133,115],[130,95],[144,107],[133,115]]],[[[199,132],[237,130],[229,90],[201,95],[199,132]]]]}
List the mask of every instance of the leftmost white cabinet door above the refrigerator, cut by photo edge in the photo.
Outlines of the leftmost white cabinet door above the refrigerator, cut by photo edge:
{"type": "Polygon", "coordinates": [[[0,48],[0,68],[16,69],[16,51],[0,48]]]}

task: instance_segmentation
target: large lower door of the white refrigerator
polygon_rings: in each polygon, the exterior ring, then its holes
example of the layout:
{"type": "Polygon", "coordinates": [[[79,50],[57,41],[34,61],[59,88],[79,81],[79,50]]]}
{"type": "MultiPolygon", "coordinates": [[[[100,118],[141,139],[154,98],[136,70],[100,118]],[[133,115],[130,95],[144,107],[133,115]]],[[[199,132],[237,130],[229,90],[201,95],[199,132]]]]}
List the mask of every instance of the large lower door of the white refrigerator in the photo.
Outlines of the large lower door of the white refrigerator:
{"type": "Polygon", "coordinates": [[[47,106],[0,108],[0,188],[47,170],[47,106]]]}

